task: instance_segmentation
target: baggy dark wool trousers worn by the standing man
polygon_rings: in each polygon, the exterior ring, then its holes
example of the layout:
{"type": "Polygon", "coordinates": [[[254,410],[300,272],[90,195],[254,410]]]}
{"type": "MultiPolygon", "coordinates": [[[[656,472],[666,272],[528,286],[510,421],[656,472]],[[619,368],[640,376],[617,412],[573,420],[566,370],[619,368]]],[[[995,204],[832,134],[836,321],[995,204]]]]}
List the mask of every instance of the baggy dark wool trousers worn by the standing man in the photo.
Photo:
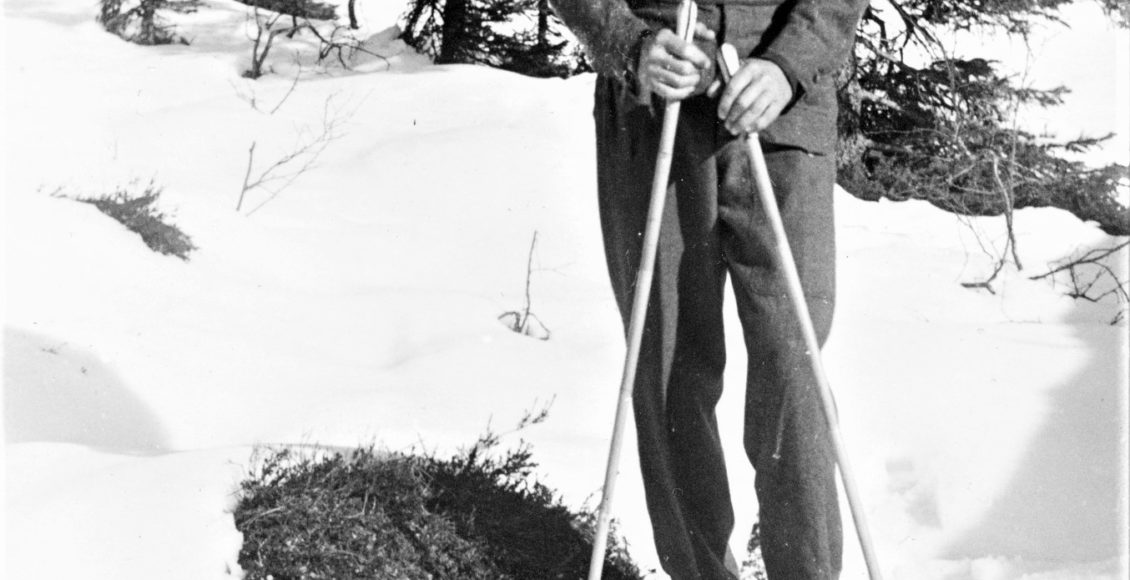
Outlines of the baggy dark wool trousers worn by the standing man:
{"type": "MultiPolygon", "coordinates": [[[[599,79],[594,116],[605,248],[627,328],[662,111],[625,92],[599,79]]],[[[716,121],[716,106],[704,96],[683,104],[634,388],[655,546],[676,580],[733,578],[724,566],[733,511],[714,414],[729,276],[749,355],[745,448],[756,469],[768,575],[837,578],[842,531],[827,424],[747,148],[716,121]]],[[[765,150],[823,344],[834,300],[834,159],[771,144],[765,150]]]]}

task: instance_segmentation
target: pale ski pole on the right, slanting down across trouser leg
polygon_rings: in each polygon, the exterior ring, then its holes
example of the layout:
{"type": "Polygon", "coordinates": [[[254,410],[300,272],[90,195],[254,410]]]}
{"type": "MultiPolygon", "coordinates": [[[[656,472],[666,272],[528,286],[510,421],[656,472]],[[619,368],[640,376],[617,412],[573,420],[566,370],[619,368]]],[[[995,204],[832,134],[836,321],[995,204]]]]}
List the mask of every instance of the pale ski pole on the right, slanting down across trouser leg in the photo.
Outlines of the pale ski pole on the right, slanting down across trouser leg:
{"type": "MultiPolygon", "coordinates": [[[[731,76],[738,71],[738,52],[731,44],[722,44],[719,47],[719,59],[722,71],[722,79],[730,81],[731,76]]],[[[754,168],[754,182],[757,185],[757,196],[765,208],[773,235],[776,237],[776,258],[784,275],[789,298],[792,302],[793,311],[800,321],[801,334],[805,336],[805,347],[808,349],[808,358],[812,364],[812,372],[816,375],[817,392],[824,417],[828,423],[828,433],[832,439],[832,450],[840,466],[840,481],[843,483],[844,493],[847,495],[847,505],[851,508],[852,521],[855,525],[855,534],[859,537],[860,547],[863,551],[863,561],[871,580],[881,580],[879,561],[875,554],[875,546],[871,542],[870,528],[867,523],[867,514],[863,511],[863,503],[855,485],[854,471],[847,460],[847,451],[844,448],[843,436],[840,433],[840,421],[836,417],[835,400],[832,397],[832,386],[828,382],[827,373],[824,370],[824,361],[820,357],[820,345],[816,339],[816,330],[812,328],[812,318],[808,312],[808,302],[805,300],[805,291],[800,285],[800,275],[797,272],[797,262],[793,260],[792,250],[789,248],[789,239],[785,236],[784,223],[781,220],[781,210],[777,207],[776,197],[773,194],[773,183],[770,180],[770,172],[765,165],[765,154],[762,153],[762,142],[757,133],[747,133],[746,144],[749,146],[749,162],[754,168]]]]}

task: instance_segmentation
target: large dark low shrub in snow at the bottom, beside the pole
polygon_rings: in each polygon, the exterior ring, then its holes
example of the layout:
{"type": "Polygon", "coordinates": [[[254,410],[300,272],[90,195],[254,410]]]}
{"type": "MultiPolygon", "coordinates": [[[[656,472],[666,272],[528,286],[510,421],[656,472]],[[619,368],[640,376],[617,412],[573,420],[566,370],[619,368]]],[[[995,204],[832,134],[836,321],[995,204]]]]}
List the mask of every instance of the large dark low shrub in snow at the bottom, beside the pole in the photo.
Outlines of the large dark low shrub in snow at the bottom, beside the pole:
{"type": "MultiPolygon", "coordinates": [[[[272,452],[235,511],[245,578],[584,578],[594,518],[532,481],[527,447],[495,457],[496,442],[450,459],[272,452]]],[[[605,578],[641,578],[611,545],[605,578]]]]}

